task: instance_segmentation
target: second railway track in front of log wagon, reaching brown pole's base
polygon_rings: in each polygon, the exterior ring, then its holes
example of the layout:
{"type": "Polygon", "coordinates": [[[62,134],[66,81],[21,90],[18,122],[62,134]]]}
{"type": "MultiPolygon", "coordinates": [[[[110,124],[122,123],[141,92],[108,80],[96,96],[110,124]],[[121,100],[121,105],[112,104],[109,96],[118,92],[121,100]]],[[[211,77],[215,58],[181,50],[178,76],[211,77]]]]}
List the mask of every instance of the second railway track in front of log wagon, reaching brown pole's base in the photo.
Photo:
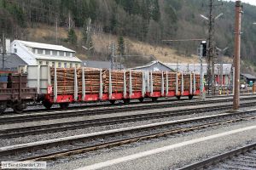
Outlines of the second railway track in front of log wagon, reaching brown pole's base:
{"type": "MultiPolygon", "coordinates": [[[[255,105],[254,101],[249,101],[246,103],[242,103],[241,107],[249,107],[255,105]]],[[[52,123],[47,125],[39,125],[39,126],[30,126],[30,127],[17,127],[17,128],[9,128],[0,130],[0,139],[9,139],[9,138],[17,138],[26,135],[36,135],[43,133],[56,133],[63,132],[67,130],[81,129],[85,127],[96,127],[96,126],[106,126],[112,124],[119,124],[125,122],[138,122],[152,119],[160,119],[164,117],[172,117],[172,116],[186,116],[204,112],[212,112],[212,111],[228,111],[232,108],[231,104],[222,104],[218,106],[202,106],[195,109],[183,109],[179,111],[148,111],[143,114],[131,114],[127,116],[113,116],[113,117],[105,117],[84,121],[75,121],[75,122],[61,122],[61,123],[52,123]]]]}

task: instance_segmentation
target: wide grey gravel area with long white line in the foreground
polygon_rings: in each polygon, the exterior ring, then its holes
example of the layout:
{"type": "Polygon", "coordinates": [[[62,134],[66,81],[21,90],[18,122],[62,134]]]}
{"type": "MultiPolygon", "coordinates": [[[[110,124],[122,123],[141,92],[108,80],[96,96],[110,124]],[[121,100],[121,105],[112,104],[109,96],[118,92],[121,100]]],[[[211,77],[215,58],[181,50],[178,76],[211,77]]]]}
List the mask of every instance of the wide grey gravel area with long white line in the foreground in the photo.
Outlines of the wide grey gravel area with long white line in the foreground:
{"type": "MultiPolygon", "coordinates": [[[[97,162],[112,160],[114,158],[128,156],[145,150],[153,150],[190,139],[198,139],[216,133],[224,133],[241,127],[255,126],[255,123],[256,120],[237,122],[223,127],[207,128],[205,130],[195,131],[194,133],[176,135],[175,138],[169,136],[166,138],[141,141],[136,144],[126,144],[113,149],[98,150],[87,153],[86,155],[66,157],[55,162],[49,162],[48,168],[61,170],[84,167],[97,162]]],[[[182,148],[143,157],[134,161],[123,162],[103,169],[175,169],[253,142],[256,142],[255,129],[246,131],[246,133],[235,133],[218,139],[211,139],[198,144],[187,145],[182,148]]]]}

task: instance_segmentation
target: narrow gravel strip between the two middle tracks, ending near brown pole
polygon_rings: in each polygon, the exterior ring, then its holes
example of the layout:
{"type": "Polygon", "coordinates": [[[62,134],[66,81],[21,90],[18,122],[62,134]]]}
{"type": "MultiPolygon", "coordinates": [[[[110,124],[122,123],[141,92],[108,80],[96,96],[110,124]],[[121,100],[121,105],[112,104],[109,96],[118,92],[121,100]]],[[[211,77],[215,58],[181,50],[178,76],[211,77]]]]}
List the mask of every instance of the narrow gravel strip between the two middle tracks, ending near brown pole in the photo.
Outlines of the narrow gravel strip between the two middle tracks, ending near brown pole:
{"type": "MultiPolygon", "coordinates": [[[[177,108],[173,108],[173,109],[177,109],[177,108]]],[[[104,130],[118,129],[121,127],[133,127],[133,126],[144,125],[144,124],[149,124],[149,123],[154,123],[154,122],[166,122],[166,121],[173,121],[173,120],[179,120],[179,119],[190,118],[190,117],[214,115],[214,114],[218,114],[218,113],[222,113],[222,112],[224,112],[224,111],[213,111],[213,112],[208,112],[208,113],[194,113],[194,114],[186,115],[186,116],[172,116],[172,117],[165,117],[165,118],[160,118],[160,119],[152,119],[152,120],[139,121],[139,122],[125,122],[125,123],[120,123],[120,124],[115,124],[115,125],[106,125],[106,126],[101,126],[101,127],[87,127],[87,128],[83,128],[83,129],[68,130],[68,131],[63,131],[63,132],[58,132],[58,133],[44,133],[44,134],[20,137],[20,138],[15,138],[15,139],[0,139],[0,147],[7,146],[7,145],[13,145],[13,144],[30,143],[30,142],[46,140],[46,139],[57,139],[57,138],[61,138],[61,137],[73,136],[73,135],[84,134],[84,133],[95,133],[95,132],[100,132],[100,131],[104,131],[104,130]]],[[[113,116],[113,115],[111,115],[111,116],[113,116]]],[[[55,121],[51,121],[51,122],[55,122],[55,121]]]]}

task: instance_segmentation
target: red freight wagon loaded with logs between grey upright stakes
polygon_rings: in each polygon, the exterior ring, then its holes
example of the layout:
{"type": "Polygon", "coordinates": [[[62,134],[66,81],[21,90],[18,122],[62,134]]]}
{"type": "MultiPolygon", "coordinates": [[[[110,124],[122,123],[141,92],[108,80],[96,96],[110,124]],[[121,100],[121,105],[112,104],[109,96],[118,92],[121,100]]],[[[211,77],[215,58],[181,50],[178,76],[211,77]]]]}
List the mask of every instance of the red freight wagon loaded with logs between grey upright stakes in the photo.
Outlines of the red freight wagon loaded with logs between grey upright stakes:
{"type": "Polygon", "coordinates": [[[37,88],[38,100],[47,108],[59,104],[131,99],[156,100],[161,97],[200,94],[200,76],[195,73],[164,71],[111,71],[94,68],[50,68],[46,65],[27,66],[27,84],[37,88]]]}

